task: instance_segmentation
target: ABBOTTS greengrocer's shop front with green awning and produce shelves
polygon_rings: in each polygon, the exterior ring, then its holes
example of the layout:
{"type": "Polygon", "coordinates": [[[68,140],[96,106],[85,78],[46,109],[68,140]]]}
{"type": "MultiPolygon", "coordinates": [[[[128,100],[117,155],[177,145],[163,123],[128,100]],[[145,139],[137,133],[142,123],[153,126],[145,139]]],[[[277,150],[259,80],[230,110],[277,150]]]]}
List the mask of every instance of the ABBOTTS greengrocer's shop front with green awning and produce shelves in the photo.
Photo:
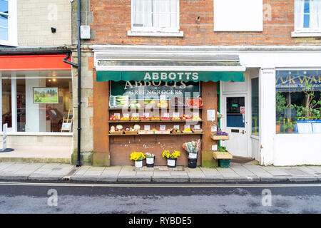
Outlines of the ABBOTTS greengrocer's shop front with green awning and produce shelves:
{"type": "Polygon", "coordinates": [[[155,165],[168,165],[163,152],[180,151],[177,165],[187,166],[183,144],[199,140],[197,165],[204,165],[202,151],[219,146],[210,135],[220,129],[220,82],[244,81],[245,68],[238,56],[207,61],[111,60],[102,56],[95,54],[96,156],[101,155],[98,150],[108,150],[108,165],[133,165],[132,152],[148,152],[155,155],[155,165]]]}

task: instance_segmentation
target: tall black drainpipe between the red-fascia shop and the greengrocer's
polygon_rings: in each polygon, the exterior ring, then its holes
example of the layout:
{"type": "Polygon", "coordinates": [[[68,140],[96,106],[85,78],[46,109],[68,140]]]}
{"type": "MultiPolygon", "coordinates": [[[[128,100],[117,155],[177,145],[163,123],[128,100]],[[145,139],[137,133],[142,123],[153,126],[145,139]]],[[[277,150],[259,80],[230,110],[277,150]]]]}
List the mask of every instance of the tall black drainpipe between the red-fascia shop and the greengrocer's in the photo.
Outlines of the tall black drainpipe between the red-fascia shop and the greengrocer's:
{"type": "Polygon", "coordinates": [[[70,53],[67,53],[66,58],[63,58],[64,63],[68,63],[75,66],[78,69],[78,128],[77,128],[77,163],[76,166],[81,166],[81,38],[80,38],[80,28],[81,28],[81,0],[78,0],[78,64],[71,63],[67,59],[70,57],[70,53]]]}

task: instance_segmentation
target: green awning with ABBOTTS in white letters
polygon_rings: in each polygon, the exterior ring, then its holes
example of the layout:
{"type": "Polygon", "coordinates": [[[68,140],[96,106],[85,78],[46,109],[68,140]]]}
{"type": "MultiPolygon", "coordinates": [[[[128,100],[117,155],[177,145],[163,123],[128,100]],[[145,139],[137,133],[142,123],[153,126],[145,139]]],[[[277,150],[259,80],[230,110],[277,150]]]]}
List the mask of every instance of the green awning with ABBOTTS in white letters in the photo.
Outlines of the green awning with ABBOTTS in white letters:
{"type": "Polygon", "coordinates": [[[96,81],[244,81],[238,61],[100,60],[96,81]]]}

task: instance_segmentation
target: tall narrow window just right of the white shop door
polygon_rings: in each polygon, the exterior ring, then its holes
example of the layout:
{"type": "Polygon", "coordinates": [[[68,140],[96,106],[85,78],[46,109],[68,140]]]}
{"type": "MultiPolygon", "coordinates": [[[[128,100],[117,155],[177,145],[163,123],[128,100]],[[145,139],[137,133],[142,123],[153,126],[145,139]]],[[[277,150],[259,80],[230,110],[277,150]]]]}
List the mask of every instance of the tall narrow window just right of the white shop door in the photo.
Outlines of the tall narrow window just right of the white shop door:
{"type": "Polygon", "coordinates": [[[251,79],[252,134],[259,135],[259,84],[258,78],[251,79]]]}

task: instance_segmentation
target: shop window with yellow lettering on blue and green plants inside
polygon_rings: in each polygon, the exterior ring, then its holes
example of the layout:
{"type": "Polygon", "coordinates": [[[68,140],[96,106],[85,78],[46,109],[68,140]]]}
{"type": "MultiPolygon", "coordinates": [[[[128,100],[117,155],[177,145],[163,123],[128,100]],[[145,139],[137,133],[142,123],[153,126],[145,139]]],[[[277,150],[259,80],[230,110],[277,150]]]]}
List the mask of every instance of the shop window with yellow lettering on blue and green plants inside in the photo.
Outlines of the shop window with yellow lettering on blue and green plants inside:
{"type": "Polygon", "coordinates": [[[321,71],[276,72],[276,133],[321,133],[321,71]]]}

